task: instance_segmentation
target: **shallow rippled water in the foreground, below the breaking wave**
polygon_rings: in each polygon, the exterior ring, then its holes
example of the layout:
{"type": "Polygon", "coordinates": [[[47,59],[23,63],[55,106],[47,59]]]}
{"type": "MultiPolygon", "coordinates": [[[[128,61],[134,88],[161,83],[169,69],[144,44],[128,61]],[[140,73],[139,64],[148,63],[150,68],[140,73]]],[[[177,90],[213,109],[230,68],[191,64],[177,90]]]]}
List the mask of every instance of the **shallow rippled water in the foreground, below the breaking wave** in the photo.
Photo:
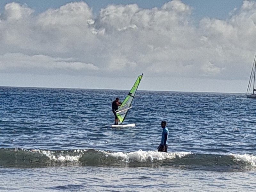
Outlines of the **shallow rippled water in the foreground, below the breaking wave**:
{"type": "Polygon", "coordinates": [[[254,191],[255,172],[180,168],[1,169],[1,191],[254,191]]]}

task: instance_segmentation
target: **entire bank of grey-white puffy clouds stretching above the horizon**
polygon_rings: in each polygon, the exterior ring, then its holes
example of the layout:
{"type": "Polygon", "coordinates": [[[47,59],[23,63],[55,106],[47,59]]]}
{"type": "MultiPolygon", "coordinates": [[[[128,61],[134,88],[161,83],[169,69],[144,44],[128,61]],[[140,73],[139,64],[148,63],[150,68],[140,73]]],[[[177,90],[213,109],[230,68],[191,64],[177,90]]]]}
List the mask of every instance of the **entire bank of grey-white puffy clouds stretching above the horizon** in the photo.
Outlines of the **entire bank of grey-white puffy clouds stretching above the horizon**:
{"type": "Polygon", "coordinates": [[[247,79],[255,54],[256,2],[244,1],[228,20],[203,18],[198,26],[192,12],[180,0],[152,9],[112,4],[96,18],[84,2],[39,15],[27,5],[6,4],[0,69],[247,79]]]}

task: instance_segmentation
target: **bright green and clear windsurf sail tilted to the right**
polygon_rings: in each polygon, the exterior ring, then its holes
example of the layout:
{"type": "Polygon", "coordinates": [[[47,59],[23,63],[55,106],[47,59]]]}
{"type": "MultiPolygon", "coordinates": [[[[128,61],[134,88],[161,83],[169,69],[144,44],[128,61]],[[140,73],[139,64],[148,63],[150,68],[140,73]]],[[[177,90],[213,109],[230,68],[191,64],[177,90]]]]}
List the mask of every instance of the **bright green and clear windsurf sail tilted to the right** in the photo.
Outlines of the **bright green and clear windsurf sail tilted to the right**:
{"type": "Polygon", "coordinates": [[[140,84],[141,78],[142,78],[143,74],[141,74],[140,76],[138,76],[137,80],[135,81],[132,89],[130,90],[130,92],[128,93],[128,95],[125,97],[124,101],[122,102],[121,106],[118,108],[118,110],[116,110],[116,116],[119,119],[120,124],[123,123],[128,110],[130,108],[132,108],[132,100],[135,96],[135,93],[138,89],[138,86],[140,84]]]}

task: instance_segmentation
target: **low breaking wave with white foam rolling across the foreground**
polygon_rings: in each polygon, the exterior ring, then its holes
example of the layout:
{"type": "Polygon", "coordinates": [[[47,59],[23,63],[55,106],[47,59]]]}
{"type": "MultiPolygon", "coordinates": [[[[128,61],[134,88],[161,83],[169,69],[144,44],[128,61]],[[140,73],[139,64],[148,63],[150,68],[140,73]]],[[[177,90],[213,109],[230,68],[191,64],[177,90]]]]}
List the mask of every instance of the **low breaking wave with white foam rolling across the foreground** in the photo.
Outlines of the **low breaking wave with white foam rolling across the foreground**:
{"type": "Polygon", "coordinates": [[[209,171],[256,170],[256,156],[249,154],[194,154],[157,151],[110,152],[97,149],[45,150],[1,148],[0,167],[51,166],[177,167],[209,171]]]}

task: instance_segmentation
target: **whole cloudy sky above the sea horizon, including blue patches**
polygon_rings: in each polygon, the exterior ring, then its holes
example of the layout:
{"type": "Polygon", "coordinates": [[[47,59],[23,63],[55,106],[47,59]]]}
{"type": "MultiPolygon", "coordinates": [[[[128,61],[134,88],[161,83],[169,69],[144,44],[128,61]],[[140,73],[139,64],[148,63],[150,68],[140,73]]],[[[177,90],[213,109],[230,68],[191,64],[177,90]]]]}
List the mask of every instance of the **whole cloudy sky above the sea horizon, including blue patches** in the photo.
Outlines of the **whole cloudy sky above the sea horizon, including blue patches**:
{"type": "Polygon", "coordinates": [[[0,86],[245,93],[256,1],[1,0],[0,86]]]}

